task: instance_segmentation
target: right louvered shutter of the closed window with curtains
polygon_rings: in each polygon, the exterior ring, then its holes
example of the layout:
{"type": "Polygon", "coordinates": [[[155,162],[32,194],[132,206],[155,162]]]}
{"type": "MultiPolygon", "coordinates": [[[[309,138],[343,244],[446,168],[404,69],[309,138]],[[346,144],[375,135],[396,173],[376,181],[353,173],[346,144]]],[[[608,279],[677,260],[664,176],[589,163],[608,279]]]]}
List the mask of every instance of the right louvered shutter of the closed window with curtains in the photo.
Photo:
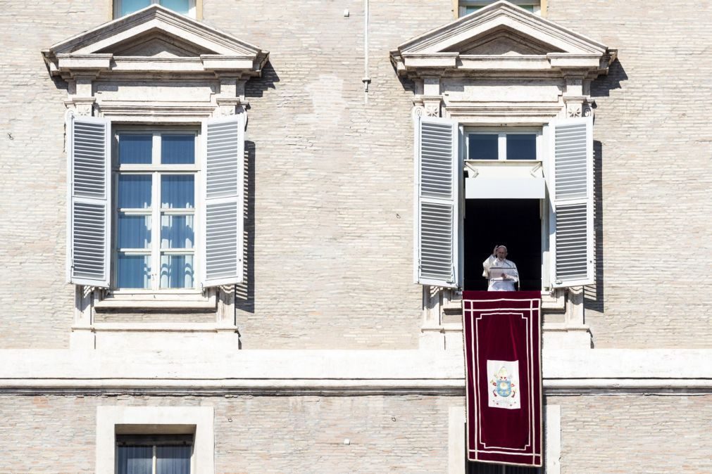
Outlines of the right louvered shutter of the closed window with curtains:
{"type": "Polygon", "coordinates": [[[242,281],[245,114],[204,124],[203,286],[242,281]]]}

